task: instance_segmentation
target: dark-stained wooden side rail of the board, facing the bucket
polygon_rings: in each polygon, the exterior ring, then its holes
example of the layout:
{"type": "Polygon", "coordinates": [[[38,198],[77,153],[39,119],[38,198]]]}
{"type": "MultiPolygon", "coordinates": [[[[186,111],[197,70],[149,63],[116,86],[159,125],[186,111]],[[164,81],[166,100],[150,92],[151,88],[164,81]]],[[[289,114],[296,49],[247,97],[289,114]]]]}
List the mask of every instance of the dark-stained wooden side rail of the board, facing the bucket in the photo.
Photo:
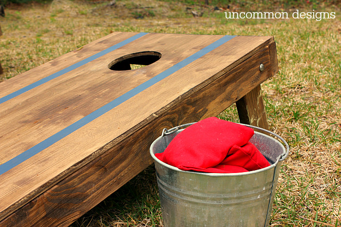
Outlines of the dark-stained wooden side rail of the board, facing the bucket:
{"type": "Polygon", "coordinates": [[[25,201],[26,204],[22,204],[21,208],[17,208],[18,210],[7,210],[7,215],[2,218],[0,226],[20,225],[20,223],[28,224],[32,223],[32,221],[34,221],[33,225],[35,226],[71,224],[76,218],[80,217],[87,210],[90,210],[152,163],[148,149],[151,142],[160,135],[163,128],[171,128],[182,123],[195,122],[209,116],[216,116],[229,105],[236,102],[236,100],[240,99],[238,95],[245,95],[250,89],[249,85],[243,83],[242,79],[245,76],[249,76],[249,80],[252,80],[252,87],[258,86],[270,77],[270,71],[261,73],[261,76],[257,71],[259,59],[264,58],[265,55],[268,56],[268,54],[264,54],[265,52],[268,52],[268,48],[264,48],[259,54],[247,58],[238,67],[223,73],[216,81],[209,84],[203,83],[193,88],[191,92],[185,93],[170,103],[170,105],[155,112],[144,122],[141,122],[132,130],[127,131],[125,136],[116,138],[100,151],[97,151],[96,154],[98,155],[94,155],[92,160],[87,158],[87,161],[84,161],[86,164],[79,164],[77,166],[78,169],[74,169],[75,173],[59,178],[59,182],[55,186],[46,188],[45,192],[36,198],[27,199],[25,201]],[[253,65],[250,70],[245,71],[250,61],[253,61],[253,65]],[[234,81],[241,82],[236,84],[239,87],[238,89],[240,89],[239,92],[236,92],[235,89],[226,90],[228,88],[226,85],[233,84],[235,83],[234,81]],[[246,88],[247,86],[249,87],[246,88]],[[196,103],[199,103],[199,105],[195,106],[196,103]],[[181,114],[183,112],[190,112],[192,114],[181,114]],[[148,124],[148,122],[151,123],[148,124]],[[138,134],[146,135],[143,138],[149,139],[141,141],[139,138],[142,137],[137,136],[138,134]],[[121,142],[112,146],[118,140],[121,142]],[[110,146],[112,146],[111,149],[104,152],[110,146]],[[126,155],[122,157],[114,154],[115,150],[122,149],[128,153],[133,152],[132,157],[135,158],[133,160],[128,159],[130,166],[133,163],[133,170],[129,170],[131,167],[127,164],[126,155]],[[143,150],[143,152],[138,152],[140,150],[143,150]],[[136,161],[136,159],[138,160],[136,161]],[[113,167],[114,161],[118,163],[113,167]],[[110,171],[110,169],[112,170],[110,171]],[[108,174],[108,176],[102,179],[105,182],[94,191],[92,184],[98,184],[98,179],[105,175],[105,173],[108,174]],[[92,179],[94,176],[96,176],[95,182],[92,179]],[[101,189],[103,188],[107,188],[108,192],[102,192],[103,190],[101,189]],[[81,195],[80,197],[83,200],[73,198],[74,196],[77,197],[77,193],[81,195]],[[73,206],[70,206],[70,201],[73,200],[78,201],[79,204],[74,203],[73,206]],[[51,223],[49,223],[50,221],[51,223]]]}

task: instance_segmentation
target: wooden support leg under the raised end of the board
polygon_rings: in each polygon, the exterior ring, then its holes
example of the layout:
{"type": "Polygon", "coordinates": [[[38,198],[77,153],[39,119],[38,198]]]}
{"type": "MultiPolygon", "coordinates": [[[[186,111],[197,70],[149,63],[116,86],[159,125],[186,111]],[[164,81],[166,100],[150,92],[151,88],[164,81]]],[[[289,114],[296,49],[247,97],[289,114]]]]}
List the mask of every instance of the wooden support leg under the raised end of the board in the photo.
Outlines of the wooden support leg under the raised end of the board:
{"type": "Polygon", "coordinates": [[[236,105],[241,123],[258,126],[266,130],[269,129],[269,125],[266,121],[262,89],[260,85],[238,100],[236,105]]]}

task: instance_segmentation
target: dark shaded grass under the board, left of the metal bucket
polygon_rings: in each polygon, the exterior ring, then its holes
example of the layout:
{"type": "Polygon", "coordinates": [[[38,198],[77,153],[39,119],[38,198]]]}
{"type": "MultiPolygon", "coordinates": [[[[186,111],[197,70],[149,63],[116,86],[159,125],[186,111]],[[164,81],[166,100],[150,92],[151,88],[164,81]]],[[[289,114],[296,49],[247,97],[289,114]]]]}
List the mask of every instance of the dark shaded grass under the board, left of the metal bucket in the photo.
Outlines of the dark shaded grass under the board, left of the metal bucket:
{"type": "Polygon", "coordinates": [[[152,164],[78,218],[71,227],[163,226],[152,164]]]}

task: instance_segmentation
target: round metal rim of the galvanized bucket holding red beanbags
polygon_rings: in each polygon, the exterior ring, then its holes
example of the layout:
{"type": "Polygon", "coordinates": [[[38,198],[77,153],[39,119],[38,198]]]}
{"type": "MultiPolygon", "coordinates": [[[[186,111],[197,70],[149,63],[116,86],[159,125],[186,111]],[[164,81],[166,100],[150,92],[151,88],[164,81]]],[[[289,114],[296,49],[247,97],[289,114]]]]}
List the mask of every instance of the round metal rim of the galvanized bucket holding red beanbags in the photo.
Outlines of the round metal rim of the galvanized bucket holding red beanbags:
{"type": "Polygon", "coordinates": [[[280,139],[282,142],[284,142],[284,144],[285,144],[285,146],[286,146],[286,149],[285,149],[285,147],[283,146],[283,144],[282,144],[281,142],[279,142],[278,140],[275,140],[274,138],[272,138],[272,137],[270,137],[270,136],[268,136],[268,135],[266,135],[266,134],[264,134],[264,133],[255,131],[255,132],[254,132],[255,134],[260,134],[260,135],[265,136],[265,137],[267,137],[267,138],[269,138],[269,139],[271,139],[271,140],[274,140],[276,143],[278,143],[278,144],[282,147],[282,149],[283,149],[283,151],[284,151],[284,152],[282,153],[282,155],[279,155],[279,156],[277,157],[275,163],[273,163],[272,165],[267,166],[267,167],[265,167],[265,168],[262,168],[262,169],[259,169],[259,170],[253,170],[253,171],[249,171],[249,172],[242,172],[242,173],[225,173],[225,174],[223,174],[223,173],[205,173],[205,172],[196,172],[196,171],[184,171],[184,170],[180,170],[180,169],[177,168],[177,167],[171,166],[171,165],[169,165],[169,164],[167,164],[167,163],[161,161],[160,159],[158,159],[158,158],[154,155],[154,153],[153,153],[153,147],[154,147],[155,143],[156,143],[158,140],[161,140],[164,136],[167,136],[167,135],[169,135],[169,134],[171,134],[171,133],[174,133],[174,132],[176,132],[176,131],[182,131],[182,130],[184,130],[184,129],[179,129],[179,127],[189,126],[189,125],[194,124],[194,123],[195,123],[195,122],[188,123],[188,124],[182,124],[182,125],[176,126],[176,127],[174,127],[174,128],[171,128],[171,129],[169,129],[169,130],[167,130],[167,129],[165,130],[165,129],[164,129],[164,130],[162,131],[162,135],[152,142],[151,147],[150,147],[150,149],[149,149],[149,152],[150,152],[152,158],[154,159],[154,162],[157,162],[157,163],[159,163],[160,165],[165,166],[165,167],[167,167],[167,168],[169,168],[169,169],[171,169],[171,170],[174,170],[174,171],[177,171],[177,172],[181,172],[181,173],[185,173],[185,174],[198,174],[198,175],[207,175],[207,176],[213,176],[213,177],[217,177],[217,176],[241,176],[241,175],[250,175],[250,174],[261,173],[261,172],[267,171],[267,170],[269,170],[269,169],[275,168],[276,165],[277,165],[280,161],[283,161],[283,160],[288,156],[288,154],[289,154],[289,145],[288,145],[287,142],[286,142],[282,137],[280,137],[279,135],[277,135],[277,134],[275,134],[275,133],[273,133],[273,132],[271,132],[271,131],[268,131],[268,130],[266,130],[266,129],[264,129],[264,128],[260,128],[260,127],[256,127],[256,126],[248,125],[248,124],[238,123],[238,124],[242,124],[242,125],[245,125],[245,126],[248,126],[248,127],[251,127],[251,128],[256,128],[256,129],[261,130],[261,131],[265,131],[265,132],[267,132],[267,133],[269,133],[269,134],[271,134],[271,135],[276,136],[278,139],[280,139]]]}

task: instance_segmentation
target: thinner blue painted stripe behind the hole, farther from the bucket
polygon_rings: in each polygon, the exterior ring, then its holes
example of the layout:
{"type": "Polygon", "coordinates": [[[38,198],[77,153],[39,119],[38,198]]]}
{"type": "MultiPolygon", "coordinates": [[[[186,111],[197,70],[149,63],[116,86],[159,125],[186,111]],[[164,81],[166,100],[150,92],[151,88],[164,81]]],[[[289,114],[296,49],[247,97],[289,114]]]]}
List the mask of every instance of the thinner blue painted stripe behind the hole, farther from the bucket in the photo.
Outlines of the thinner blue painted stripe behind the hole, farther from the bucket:
{"type": "Polygon", "coordinates": [[[109,47],[108,49],[105,49],[104,51],[98,52],[98,53],[96,53],[96,54],[94,54],[94,55],[92,55],[92,56],[90,56],[88,58],[85,58],[84,60],[81,60],[81,61],[77,62],[76,64],[74,64],[72,66],[66,67],[65,69],[57,71],[57,72],[55,72],[55,73],[53,73],[53,74],[51,74],[51,75],[49,75],[47,77],[44,77],[44,78],[36,81],[33,84],[30,84],[30,85],[28,85],[26,87],[23,87],[23,88],[15,91],[15,92],[13,92],[11,94],[8,94],[8,95],[0,98],[0,104],[4,103],[4,102],[6,102],[6,101],[8,101],[10,99],[13,99],[13,98],[17,97],[18,95],[21,95],[22,93],[24,93],[26,91],[29,91],[29,90],[31,90],[31,89],[33,89],[35,87],[38,87],[39,85],[45,84],[46,82],[48,82],[50,80],[53,80],[53,79],[57,78],[58,76],[61,76],[61,75],[65,74],[65,73],[67,73],[69,71],[75,70],[75,69],[77,69],[77,68],[79,68],[79,67],[81,67],[81,66],[83,66],[83,65],[85,65],[85,64],[87,64],[87,63],[89,63],[89,62],[91,62],[93,60],[95,60],[96,58],[99,58],[99,57],[103,56],[104,54],[112,52],[112,51],[114,51],[114,50],[116,50],[116,49],[118,49],[118,48],[120,48],[120,47],[122,47],[122,46],[124,46],[124,45],[126,45],[126,44],[128,44],[128,43],[130,43],[132,41],[134,41],[135,39],[137,39],[137,38],[139,38],[139,37],[141,37],[143,35],[146,35],[146,34],[148,34],[148,33],[139,33],[137,35],[133,35],[132,37],[127,38],[126,40],[123,40],[122,42],[119,42],[119,43],[115,44],[114,46],[109,47]]]}

